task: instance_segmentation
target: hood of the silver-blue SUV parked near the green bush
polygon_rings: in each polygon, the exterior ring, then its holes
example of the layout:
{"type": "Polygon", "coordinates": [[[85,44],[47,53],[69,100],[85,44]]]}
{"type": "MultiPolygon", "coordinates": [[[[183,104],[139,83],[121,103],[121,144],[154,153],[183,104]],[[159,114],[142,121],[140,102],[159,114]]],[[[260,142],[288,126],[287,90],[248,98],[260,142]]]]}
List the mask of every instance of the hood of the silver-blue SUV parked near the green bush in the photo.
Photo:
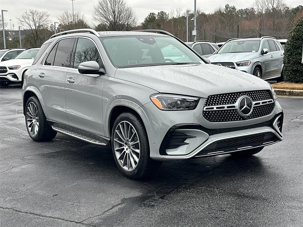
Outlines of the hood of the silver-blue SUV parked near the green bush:
{"type": "Polygon", "coordinates": [[[239,62],[247,61],[258,56],[257,52],[214,54],[208,57],[210,62],[239,62]]]}

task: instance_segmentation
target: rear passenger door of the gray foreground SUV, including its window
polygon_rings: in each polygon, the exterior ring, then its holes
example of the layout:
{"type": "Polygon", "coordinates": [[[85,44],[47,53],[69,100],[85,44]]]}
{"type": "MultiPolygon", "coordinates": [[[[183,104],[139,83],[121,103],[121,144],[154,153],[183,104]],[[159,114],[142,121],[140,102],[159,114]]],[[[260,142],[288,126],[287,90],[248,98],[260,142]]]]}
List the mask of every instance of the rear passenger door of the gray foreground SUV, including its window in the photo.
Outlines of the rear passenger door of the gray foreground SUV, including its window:
{"type": "Polygon", "coordinates": [[[42,94],[48,119],[65,124],[68,124],[68,120],[64,83],[74,43],[75,38],[57,42],[36,74],[36,85],[42,94]]]}

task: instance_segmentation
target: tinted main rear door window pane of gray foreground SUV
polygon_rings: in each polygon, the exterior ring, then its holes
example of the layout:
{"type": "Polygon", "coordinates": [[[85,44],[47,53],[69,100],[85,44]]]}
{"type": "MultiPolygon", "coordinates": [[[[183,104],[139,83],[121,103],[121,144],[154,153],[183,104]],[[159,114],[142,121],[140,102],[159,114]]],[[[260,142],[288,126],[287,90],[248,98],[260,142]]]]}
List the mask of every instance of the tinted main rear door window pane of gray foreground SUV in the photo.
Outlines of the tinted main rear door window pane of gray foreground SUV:
{"type": "Polygon", "coordinates": [[[62,39],[58,43],[54,66],[69,67],[76,38],[62,39]]]}

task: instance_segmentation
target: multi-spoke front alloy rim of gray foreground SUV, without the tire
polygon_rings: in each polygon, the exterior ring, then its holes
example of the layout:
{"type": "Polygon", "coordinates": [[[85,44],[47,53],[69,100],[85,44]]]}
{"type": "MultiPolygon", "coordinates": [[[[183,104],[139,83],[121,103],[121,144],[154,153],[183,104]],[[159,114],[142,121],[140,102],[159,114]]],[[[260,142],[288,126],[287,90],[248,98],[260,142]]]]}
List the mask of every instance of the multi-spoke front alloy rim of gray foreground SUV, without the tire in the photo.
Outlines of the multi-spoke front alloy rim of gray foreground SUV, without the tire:
{"type": "Polygon", "coordinates": [[[119,165],[126,171],[134,170],[140,158],[138,133],[128,121],[121,121],[114,134],[114,149],[119,165]]]}

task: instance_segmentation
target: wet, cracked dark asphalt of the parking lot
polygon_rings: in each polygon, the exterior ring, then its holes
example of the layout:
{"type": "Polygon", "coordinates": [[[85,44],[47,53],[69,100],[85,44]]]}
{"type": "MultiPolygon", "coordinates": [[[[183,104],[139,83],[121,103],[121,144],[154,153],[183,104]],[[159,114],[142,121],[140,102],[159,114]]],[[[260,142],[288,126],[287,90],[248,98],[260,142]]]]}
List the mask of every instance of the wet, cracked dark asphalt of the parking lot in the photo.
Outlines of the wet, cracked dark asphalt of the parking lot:
{"type": "Polygon", "coordinates": [[[0,226],[303,226],[303,98],[279,101],[283,142],[165,162],[136,181],[108,149],[59,133],[32,141],[21,87],[1,87],[0,226]]]}

